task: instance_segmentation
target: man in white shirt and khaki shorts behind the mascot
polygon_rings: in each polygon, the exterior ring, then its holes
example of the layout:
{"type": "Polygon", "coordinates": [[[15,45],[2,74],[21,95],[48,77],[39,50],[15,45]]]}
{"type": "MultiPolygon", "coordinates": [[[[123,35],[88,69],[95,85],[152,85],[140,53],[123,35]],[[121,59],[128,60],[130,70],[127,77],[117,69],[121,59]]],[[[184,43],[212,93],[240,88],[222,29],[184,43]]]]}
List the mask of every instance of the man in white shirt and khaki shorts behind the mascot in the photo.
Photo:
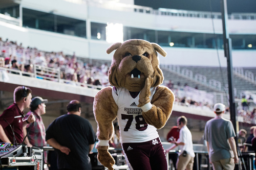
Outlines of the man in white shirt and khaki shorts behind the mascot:
{"type": "Polygon", "coordinates": [[[192,135],[186,125],[187,118],[185,116],[180,116],[177,118],[177,126],[180,129],[179,139],[178,141],[176,141],[176,139],[172,141],[174,145],[168,148],[166,153],[180,145],[180,152],[178,153],[179,158],[177,160],[176,167],[177,169],[192,170],[195,153],[193,150],[192,135]]]}

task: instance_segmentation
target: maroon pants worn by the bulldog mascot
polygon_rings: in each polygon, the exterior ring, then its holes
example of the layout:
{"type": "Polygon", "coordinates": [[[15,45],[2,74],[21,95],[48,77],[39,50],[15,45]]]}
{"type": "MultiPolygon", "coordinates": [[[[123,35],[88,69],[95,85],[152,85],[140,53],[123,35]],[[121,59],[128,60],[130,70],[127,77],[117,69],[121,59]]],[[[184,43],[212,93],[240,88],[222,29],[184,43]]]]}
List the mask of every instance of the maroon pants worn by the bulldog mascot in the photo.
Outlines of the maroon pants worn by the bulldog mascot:
{"type": "Polygon", "coordinates": [[[159,138],[141,143],[122,143],[131,170],[166,170],[167,161],[159,138]]]}

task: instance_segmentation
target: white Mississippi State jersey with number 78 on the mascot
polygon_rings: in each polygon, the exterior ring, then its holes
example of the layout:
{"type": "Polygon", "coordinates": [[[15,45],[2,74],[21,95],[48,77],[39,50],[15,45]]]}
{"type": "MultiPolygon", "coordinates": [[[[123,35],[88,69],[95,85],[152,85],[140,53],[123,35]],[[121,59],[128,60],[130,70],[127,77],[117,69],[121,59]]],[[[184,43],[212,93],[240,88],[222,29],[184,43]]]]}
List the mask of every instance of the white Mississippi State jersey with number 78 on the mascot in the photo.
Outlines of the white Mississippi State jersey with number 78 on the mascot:
{"type": "MultiPolygon", "coordinates": [[[[151,88],[150,100],[155,91],[156,87],[151,88]]],[[[159,137],[157,129],[145,122],[142,109],[137,107],[139,94],[133,99],[127,89],[112,87],[112,95],[118,106],[117,120],[122,143],[139,143],[159,137]]]]}

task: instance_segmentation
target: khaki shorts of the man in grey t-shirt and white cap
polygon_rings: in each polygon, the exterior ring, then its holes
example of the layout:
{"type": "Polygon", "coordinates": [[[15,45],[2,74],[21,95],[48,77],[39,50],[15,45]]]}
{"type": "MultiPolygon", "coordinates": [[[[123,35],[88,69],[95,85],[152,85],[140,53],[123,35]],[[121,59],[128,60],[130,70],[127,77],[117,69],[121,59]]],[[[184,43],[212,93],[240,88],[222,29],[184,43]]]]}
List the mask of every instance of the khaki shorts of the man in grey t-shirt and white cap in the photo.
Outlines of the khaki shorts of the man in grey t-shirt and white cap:
{"type": "Polygon", "coordinates": [[[212,161],[212,167],[214,170],[230,170],[234,169],[234,158],[221,159],[218,161],[212,161]]]}

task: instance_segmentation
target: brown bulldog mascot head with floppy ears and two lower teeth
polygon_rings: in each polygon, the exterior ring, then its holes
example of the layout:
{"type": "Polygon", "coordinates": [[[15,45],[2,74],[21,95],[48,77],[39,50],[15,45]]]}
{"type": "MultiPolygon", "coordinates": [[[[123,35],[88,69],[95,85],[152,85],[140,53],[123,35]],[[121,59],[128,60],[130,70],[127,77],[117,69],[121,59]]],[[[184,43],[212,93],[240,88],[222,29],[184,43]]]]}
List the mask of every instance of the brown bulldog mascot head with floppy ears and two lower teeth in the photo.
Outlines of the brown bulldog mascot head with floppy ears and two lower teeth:
{"type": "Polygon", "coordinates": [[[147,77],[154,78],[151,87],[163,83],[163,73],[159,68],[157,52],[166,56],[166,52],[156,43],[131,39],[111,45],[106,53],[114,50],[109,70],[109,81],[112,86],[124,87],[129,91],[141,91],[147,77]]]}

